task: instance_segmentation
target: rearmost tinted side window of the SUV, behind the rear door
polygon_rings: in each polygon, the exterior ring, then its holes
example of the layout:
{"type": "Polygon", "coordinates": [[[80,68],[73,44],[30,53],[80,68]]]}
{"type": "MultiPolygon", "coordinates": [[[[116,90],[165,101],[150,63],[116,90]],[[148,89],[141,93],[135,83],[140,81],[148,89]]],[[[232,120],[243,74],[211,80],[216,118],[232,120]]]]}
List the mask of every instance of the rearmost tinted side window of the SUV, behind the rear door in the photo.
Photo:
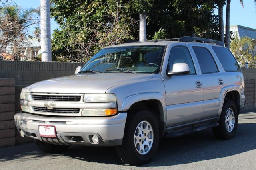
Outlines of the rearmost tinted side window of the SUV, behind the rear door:
{"type": "Polygon", "coordinates": [[[225,71],[241,72],[240,67],[232,53],[222,47],[212,47],[225,71]]]}

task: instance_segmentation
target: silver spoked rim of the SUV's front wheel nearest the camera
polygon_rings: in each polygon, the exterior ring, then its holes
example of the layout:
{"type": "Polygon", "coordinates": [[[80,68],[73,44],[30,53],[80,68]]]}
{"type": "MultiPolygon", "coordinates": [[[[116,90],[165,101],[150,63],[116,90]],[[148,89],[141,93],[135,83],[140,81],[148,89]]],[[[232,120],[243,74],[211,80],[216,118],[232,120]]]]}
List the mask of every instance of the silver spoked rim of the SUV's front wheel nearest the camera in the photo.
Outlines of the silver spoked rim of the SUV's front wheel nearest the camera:
{"type": "Polygon", "coordinates": [[[147,154],[152,148],[154,133],[148,121],[141,121],[135,129],[134,145],[139,154],[147,154]]]}

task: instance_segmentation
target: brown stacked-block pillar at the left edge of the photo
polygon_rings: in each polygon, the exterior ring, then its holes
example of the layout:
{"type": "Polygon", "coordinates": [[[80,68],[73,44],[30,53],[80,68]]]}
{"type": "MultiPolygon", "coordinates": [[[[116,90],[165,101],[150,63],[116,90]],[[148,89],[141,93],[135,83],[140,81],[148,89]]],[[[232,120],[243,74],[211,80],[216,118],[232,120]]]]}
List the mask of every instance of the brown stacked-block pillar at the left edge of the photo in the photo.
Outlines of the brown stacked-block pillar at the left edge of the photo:
{"type": "Polygon", "coordinates": [[[0,147],[15,144],[15,80],[0,78],[0,147]]]}

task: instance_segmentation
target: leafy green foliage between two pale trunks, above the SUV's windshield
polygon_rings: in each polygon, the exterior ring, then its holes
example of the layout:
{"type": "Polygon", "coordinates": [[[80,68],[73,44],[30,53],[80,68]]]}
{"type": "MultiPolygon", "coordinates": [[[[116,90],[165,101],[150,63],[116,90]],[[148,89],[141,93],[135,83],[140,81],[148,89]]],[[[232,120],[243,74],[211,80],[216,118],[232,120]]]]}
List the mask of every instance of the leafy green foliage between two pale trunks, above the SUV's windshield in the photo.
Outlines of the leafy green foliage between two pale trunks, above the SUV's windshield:
{"type": "MultiPolygon", "coordinates": [[[[134,39],[132,3],[112,0],[53,0],[52,16],[61,29],[54,30],[52,53],[68,61],[86,62],[102,47],[134,39]],[[118,2],[118,3],[117,3],[118,2]]],[[[146,3],[146,0],[145,0],[146,3]]],[[[139,11],[139,10],[138,10],[139,11]]]]}

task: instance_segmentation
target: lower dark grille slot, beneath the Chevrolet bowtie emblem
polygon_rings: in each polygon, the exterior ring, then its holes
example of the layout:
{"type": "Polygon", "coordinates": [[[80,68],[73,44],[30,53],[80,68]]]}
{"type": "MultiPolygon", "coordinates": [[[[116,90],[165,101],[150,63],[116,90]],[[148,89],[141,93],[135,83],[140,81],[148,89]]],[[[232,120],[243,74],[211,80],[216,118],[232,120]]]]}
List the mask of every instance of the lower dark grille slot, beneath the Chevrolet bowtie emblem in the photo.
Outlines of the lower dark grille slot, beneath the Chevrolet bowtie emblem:
{"type": "Polygon", "coordinates": [[[79,113],[79,109],[76,108],[53,108],[47,109],[47,107],[33,107],[34,111],[48,112],[48,113],[79,113]]]}

